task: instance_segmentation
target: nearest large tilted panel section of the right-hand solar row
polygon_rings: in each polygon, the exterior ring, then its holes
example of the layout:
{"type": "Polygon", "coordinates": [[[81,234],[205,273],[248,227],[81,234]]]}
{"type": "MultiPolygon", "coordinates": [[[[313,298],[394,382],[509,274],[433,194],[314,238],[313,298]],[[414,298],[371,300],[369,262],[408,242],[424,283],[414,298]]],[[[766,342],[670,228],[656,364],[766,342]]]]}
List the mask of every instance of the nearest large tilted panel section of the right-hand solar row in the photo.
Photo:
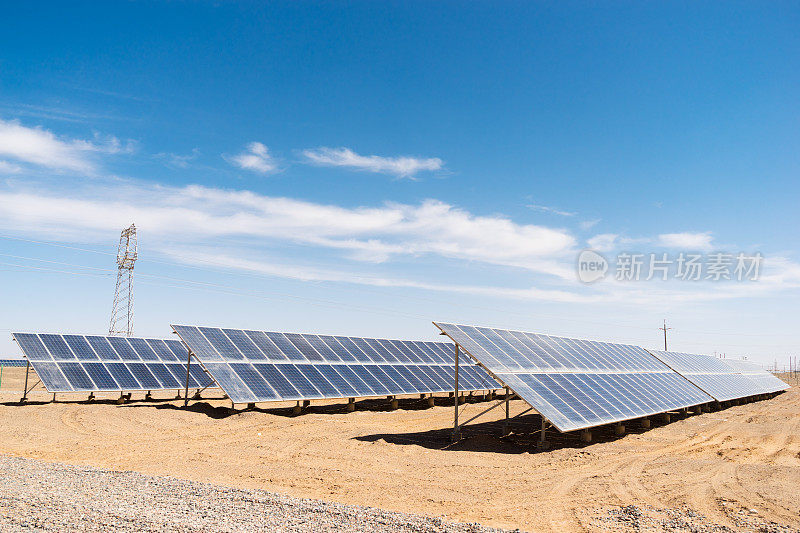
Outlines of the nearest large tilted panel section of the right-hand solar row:
{"type": "Polygon", "coordinates": [[[562,432],[713,400],[638,346],[434,324],[562,432]]]}

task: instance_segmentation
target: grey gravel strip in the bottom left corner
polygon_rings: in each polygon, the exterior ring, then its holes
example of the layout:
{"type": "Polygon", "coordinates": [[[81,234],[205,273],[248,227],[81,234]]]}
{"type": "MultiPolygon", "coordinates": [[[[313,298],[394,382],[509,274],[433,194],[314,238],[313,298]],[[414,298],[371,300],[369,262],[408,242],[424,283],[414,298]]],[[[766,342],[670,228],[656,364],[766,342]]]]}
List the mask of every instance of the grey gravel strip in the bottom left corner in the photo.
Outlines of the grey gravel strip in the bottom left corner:
{"type": "Polygon", "coordinates": [[[410,531],[480,524],[241,490],[136,472],[0,456],[2,531],[410,531]]]}

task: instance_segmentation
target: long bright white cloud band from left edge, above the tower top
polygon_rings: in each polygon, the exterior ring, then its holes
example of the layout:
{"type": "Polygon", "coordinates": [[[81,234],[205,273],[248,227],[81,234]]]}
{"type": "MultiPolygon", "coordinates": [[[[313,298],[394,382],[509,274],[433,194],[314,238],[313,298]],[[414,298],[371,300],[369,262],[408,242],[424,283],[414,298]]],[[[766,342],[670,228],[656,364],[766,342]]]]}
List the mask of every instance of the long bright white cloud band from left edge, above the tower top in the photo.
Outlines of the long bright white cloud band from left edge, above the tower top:
{"type": "Polygon", "coordinates": [[[567,231],[477,216],[436,200],[344,208],[200,186],[97,186],[48,195],[0,191],[5,227],[83,234],[131,221],[160,238],[238,237],[261,245],[273,239],[341,250],[358,261],[434,255],[573,277],[561,261],[575,245],[567,231]]]}

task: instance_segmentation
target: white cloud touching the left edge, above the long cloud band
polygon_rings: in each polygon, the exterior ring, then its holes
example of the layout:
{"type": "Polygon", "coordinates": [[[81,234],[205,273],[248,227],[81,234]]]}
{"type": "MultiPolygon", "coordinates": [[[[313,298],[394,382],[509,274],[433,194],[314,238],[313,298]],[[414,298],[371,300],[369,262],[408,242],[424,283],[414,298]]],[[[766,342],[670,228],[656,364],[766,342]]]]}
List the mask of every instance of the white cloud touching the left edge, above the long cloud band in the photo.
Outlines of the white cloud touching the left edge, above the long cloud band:
{"type": "Polygon", "coordinates": [[[91,173],[96,166],[92,153],[129,153],[134,148],[132,142],[123,145],[113,136],[95,135],[94,142],[60,139],[42,128],[0,120],[0,156],[49,169],[91,173]]]}

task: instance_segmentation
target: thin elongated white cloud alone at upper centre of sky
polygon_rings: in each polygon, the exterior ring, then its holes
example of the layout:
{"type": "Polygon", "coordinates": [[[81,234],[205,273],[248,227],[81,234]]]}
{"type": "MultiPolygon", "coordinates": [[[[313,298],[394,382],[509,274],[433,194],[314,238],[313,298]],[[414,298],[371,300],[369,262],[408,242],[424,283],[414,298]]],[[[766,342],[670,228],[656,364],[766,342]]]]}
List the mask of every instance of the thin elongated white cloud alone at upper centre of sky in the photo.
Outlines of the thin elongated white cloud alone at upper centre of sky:
{"type": "Polygon", "coordinates": [[[355,170],[392,174],[398,178],[413,178],[423,170],[441,170],[444,163],[438,157],[381,157],[359,155],[349,148],[317,148],[303,150],[307,162],[328,167],[348,167],[355,170]]]}

